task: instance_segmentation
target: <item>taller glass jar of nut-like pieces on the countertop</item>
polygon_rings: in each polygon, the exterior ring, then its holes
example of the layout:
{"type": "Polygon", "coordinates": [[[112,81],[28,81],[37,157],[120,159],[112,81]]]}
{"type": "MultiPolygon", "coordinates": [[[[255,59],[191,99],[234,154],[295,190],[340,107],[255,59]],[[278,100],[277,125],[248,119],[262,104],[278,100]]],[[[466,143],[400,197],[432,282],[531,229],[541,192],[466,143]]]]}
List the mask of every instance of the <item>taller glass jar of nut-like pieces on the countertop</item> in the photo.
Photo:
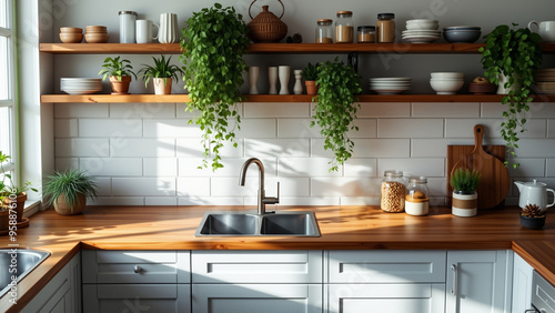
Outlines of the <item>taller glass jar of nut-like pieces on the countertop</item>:
{"type": "Polygon", "coordinates": [[[385,171],[382,180],[381,208],[385,212],[398,213],[405,210],[405,181],[403,171],[385,171]]]}

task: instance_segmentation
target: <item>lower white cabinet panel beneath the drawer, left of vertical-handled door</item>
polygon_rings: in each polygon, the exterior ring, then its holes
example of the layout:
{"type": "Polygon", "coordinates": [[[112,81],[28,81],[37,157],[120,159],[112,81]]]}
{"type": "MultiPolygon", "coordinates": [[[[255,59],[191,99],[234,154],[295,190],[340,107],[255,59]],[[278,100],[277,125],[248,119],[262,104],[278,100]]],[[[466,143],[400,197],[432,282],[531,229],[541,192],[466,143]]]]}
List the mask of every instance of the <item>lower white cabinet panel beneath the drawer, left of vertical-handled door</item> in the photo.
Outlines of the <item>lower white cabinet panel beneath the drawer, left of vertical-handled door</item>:
{"type": "Polygon", "coordinates": [[[445,284],[330,284],[329,313],[438,313],[445,284]]]}

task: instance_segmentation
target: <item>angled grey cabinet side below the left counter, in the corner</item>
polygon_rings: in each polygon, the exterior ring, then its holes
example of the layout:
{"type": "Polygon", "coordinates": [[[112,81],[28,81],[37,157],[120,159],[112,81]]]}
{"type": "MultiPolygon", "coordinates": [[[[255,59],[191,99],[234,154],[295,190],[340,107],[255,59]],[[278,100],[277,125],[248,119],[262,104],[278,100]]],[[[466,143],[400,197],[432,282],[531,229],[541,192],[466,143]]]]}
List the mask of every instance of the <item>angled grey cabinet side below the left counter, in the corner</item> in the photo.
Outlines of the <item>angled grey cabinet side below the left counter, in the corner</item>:
{"type": "Polygon", "coordinates": [[[21,312],[81,312],[81,260],[77,254],[21,312]]]}

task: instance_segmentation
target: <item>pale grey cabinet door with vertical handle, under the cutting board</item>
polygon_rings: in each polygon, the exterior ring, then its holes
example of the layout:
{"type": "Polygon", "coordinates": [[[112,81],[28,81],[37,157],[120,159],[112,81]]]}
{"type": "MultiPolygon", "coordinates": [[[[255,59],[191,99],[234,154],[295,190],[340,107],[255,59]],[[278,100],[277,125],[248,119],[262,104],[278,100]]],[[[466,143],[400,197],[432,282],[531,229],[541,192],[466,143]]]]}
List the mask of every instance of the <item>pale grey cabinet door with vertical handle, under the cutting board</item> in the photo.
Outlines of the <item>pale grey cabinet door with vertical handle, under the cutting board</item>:
{"type": "Polygon", "coordinates": [[[447,251],[446,312],[511,312],[512,253],[447,251]]]}

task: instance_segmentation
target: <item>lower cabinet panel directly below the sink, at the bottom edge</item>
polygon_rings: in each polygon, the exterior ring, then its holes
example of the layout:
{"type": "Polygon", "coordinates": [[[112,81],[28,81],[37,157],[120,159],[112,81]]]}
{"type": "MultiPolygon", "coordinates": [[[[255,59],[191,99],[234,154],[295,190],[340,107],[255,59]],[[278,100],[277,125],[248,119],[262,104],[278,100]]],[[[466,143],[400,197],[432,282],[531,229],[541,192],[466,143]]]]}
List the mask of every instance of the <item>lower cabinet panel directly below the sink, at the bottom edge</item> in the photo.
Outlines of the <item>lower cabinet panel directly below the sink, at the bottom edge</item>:
{"type": "Polygon", "coordinates": [[[322,284],[193,284],[194,313],[322,313],[322,284]]]}

